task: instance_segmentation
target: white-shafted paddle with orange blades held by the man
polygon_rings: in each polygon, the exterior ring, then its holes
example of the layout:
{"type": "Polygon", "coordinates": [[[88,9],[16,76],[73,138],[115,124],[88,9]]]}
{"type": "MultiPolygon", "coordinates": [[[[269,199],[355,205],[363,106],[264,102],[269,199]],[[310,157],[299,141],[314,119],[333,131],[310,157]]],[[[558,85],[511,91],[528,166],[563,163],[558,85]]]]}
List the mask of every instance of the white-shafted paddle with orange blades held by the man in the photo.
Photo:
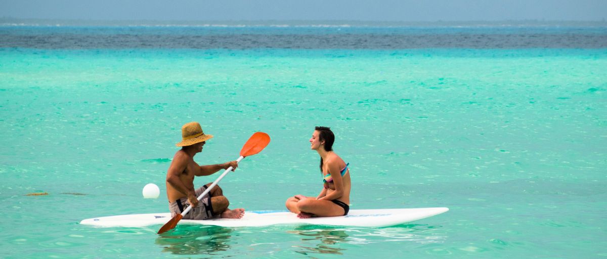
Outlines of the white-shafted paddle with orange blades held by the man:
{"type": "MultiPolygon", "coordinates": [[[[255,132],[253,134],[253,136],[251,136],[251,138],[249,138],[249,140],[246,141],[245,146],[243,146],[242,149],[240,150],[240,157],[236,160],[236,162],[237,163],[240,162],[240,160],[242,160],[246,156],[251,156],[251,155],[255,155],[256,153],[259,153],[261,150],[263,150],[263,148],[268,146],[268,143],[270,143],[270,136],[268,136],[268,134],[263,133],[263,132],[255,132]]],[[[209,193],[209,191],[211,189],[213,189],[213,187],[217,186],[217,183],[219,183],[219,181],[221,181],[222,178],[225,177],[225,175],[227,175],[228,172],[231,170],[232,170],[231,166],[228,169],[226,169],[222,173],[222,175],[220,175],[217,178],[217,180],[215,180],[211,184],[211,186],[206,188],[205,192],[201,193],[200,196],[198,196],[198,198],[197,198],[198,201],[200,201],[200,199],[202,199],[202,197],[205,196],[206,193],[209,193]]],[[[181,212],[181,214],[177,214],[177,215],[175,215],[175,217],[171,218],[171,220],[169,220],[169,222],[164,224],[164,226],[160,227],[160,230],[158,230],[158,234],[167,232],[168,230],[171,230],[175,226],[177,226],[177,223],[181,220],[181,218],[183,218],[184,215],[188,214],[188,212],[191,209],[192,209],[192,206],[190,205],[190,206],[188,206],[187,209],[183,210],[183,212],[181,212]]]]}

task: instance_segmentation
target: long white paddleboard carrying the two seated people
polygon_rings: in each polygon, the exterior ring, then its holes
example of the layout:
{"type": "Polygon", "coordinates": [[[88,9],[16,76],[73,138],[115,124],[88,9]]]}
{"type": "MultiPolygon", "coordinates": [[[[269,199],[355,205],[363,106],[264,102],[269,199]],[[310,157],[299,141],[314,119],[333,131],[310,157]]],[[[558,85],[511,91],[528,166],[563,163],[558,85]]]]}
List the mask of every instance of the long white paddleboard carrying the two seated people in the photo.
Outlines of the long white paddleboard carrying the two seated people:
{"type": "MultiPolygon", "coordinates": [[[[222,227],[260,227],[275,224],[285,225],[327,225],[357,227],[387,227],[432,217],[449,210],[446,207],[417,209],[353,209],[341,217],[297,218],[288,211],[253,210],[246,211],[240,219],[217,218],[211,220],[180,220],[179,224],[202,224],[222,227]]],[[[89,218],[80,224],[100,227],[144,227],[163,225],[171,220],[170,213],[132,214],[100,218],[89,218]]]]}

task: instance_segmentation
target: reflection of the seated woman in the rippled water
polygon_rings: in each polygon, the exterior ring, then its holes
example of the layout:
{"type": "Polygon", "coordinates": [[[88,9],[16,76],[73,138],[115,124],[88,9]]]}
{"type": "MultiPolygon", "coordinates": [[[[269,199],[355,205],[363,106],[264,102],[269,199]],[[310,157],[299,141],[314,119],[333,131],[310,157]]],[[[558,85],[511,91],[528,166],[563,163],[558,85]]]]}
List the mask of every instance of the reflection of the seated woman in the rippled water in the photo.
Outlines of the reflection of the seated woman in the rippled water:
{"type": "Polygon", "coordinates": [[[302,250],[295,252],[304,255],[308,253],[341,255],[345,249],[338,247],[337,244],[346,242],[348,238],[348,234],[343,229],[318,229],[318,226],[297,227],[288,233],[304,236],[302,238],[304,244],[317,243],[315,247],[293,246],[301,248],[302,250]]]}

